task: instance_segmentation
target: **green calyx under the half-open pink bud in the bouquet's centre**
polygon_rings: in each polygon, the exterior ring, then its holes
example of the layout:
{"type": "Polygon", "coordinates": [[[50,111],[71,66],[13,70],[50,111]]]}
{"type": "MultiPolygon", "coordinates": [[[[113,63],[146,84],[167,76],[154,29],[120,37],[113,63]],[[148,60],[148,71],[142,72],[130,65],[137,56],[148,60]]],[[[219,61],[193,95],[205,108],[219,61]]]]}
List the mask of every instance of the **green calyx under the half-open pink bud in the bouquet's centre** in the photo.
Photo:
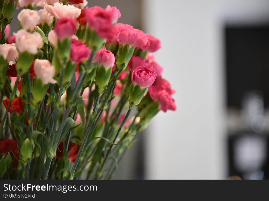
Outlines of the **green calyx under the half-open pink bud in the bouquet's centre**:
{"type": "Polygon", "coordinates": [[[96,69],[95,87],[99,95],[105,91],[107,84],[109,83],[111,73],[112,67],[105,69],[105,67],[101,66],[96,69]]]}

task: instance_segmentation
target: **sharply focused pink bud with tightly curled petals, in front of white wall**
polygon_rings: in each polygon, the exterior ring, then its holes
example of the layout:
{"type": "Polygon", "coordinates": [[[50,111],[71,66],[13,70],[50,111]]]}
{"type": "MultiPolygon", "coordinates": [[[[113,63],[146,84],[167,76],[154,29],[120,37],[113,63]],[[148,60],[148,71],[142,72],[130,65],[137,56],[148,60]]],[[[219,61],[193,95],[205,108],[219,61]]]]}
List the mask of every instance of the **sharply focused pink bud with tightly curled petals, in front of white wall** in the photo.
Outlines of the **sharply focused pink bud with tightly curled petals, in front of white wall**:
{"type": "Polygon", "coordinates": [[[152,67],[139,66],[132,74],[132,83],[141,88],[149,87],[157,77],[156,70],[152,67]]]}

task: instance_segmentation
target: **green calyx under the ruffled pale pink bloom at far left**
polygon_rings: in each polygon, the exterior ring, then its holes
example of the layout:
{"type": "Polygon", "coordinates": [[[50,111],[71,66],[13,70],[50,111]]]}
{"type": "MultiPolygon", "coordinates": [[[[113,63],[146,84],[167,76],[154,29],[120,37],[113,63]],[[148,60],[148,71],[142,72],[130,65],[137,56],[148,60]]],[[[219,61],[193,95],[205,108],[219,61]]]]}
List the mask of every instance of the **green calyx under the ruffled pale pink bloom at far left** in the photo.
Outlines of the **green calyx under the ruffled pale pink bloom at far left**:
{"type": "Polygon", "coordinates": [[[25,51],[19,54],[16,64],[17,77],[27,73],[31,67],[34,55],[25,51]]]}

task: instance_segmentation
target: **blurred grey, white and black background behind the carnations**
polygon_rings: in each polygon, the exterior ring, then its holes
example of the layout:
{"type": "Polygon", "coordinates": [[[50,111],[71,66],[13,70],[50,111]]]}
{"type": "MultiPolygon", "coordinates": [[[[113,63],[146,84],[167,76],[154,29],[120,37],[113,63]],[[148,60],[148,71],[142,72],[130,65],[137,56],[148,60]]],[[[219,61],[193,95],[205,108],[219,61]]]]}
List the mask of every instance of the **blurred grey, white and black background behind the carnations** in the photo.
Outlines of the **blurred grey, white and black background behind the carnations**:
{"type": "Polygon", "coordinates": [[[115,179],[269,178],[268,0],[88,2],[160,39],[177,91],[177,111],[138,135],[115,179]]]}

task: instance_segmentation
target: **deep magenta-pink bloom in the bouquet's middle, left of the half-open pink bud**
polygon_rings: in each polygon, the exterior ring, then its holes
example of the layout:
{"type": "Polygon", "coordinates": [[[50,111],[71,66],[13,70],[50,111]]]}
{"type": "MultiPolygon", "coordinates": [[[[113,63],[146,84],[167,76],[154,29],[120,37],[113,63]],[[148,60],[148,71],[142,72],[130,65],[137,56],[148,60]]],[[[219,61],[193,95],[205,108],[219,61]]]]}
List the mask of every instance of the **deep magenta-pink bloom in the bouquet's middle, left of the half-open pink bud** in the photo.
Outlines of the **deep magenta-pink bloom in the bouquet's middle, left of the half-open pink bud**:
{"type": "Polygon", "coordinates": [[[91,49],[81,40],[72,39],[70,58],[72,61],[81,63],[90,57],[91,49]]]}

